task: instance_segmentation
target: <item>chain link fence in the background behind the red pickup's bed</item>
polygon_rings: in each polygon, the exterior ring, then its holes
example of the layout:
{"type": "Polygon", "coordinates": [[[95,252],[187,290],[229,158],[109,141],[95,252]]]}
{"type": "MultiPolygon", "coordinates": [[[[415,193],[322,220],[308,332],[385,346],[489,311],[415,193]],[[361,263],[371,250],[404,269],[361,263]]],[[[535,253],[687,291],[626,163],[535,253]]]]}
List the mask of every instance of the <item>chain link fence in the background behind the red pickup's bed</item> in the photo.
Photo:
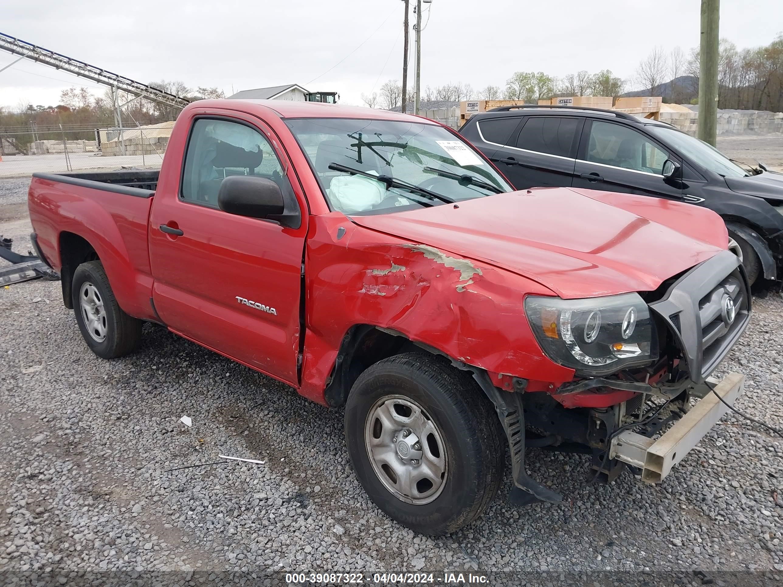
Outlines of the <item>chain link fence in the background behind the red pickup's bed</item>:
{"type": "Polygon", "coordinates": [[[174,122],[135,128],[0,128],[0,178],[160,167],[174,122]]]}

